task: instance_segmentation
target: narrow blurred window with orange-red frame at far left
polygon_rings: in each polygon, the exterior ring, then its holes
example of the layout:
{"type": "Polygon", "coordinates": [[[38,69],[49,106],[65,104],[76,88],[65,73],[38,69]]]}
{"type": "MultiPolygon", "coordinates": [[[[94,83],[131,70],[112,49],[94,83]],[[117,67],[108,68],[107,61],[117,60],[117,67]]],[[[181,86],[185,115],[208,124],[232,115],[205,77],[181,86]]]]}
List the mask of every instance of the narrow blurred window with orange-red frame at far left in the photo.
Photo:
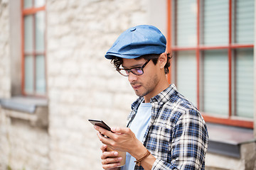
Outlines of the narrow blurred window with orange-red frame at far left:
{"type": "Polygon", "coordinates": [[[24,95],[46,95],[45,0],[23,0],[22,91],[24,95]]]}

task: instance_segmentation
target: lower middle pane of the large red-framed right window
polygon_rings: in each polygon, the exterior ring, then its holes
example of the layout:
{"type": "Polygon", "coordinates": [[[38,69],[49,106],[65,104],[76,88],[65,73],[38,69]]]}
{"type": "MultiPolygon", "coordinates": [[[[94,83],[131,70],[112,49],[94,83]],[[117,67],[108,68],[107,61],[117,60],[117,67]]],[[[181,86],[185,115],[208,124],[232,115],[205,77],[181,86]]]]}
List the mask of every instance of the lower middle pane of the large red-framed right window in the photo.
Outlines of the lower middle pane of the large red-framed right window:
{"type": "Polygon", "coordinates": [[[228,52],[209,50],[203,58],[203,111],[228,115],[228,52]]]}

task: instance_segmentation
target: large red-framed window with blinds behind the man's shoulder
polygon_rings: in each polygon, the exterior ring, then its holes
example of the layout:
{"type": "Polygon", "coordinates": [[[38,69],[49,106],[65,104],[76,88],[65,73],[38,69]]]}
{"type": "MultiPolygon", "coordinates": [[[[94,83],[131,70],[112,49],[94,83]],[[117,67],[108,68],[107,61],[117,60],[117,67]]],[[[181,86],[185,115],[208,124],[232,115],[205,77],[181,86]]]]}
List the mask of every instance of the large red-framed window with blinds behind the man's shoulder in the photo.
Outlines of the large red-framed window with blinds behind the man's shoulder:
{"type": "Polygon", "coordinates": [[[169,0],[169,80],[206,121],[253,128],[254,0],[169,0]]]}

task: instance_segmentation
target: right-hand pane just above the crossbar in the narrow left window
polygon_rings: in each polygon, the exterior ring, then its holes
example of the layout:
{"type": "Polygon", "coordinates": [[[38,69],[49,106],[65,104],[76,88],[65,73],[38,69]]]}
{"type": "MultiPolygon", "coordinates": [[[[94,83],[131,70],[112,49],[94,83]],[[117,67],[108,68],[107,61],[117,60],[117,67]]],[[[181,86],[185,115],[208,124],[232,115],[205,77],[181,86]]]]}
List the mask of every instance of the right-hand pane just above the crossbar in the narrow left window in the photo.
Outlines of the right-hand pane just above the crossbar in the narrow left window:
{"type": "Polygon", "coordinates": [[[45,12],[36,13],[36,51],[44,50],[45,12]]]}

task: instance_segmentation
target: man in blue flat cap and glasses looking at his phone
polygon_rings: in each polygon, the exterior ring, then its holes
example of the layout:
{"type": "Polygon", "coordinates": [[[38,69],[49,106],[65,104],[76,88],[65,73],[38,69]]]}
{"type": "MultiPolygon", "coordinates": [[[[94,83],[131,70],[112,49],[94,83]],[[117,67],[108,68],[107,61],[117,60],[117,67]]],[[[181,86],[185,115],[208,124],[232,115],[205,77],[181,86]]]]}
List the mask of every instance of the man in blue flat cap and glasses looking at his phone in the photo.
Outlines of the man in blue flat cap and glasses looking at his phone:
{"type": "Polygon", "coordinates": [[[204,169],[206,123],[174,84],[169,85],[170,57],[165,50],[160,30],[143,25],[124,31],[105,55],[128,77],[139,98],[132,104],[128,128],[110,132],[95,126],[103,143],[103,169],[119,169],[122,160],[107,147],[127,152],[121,169],[204,169]]]}

